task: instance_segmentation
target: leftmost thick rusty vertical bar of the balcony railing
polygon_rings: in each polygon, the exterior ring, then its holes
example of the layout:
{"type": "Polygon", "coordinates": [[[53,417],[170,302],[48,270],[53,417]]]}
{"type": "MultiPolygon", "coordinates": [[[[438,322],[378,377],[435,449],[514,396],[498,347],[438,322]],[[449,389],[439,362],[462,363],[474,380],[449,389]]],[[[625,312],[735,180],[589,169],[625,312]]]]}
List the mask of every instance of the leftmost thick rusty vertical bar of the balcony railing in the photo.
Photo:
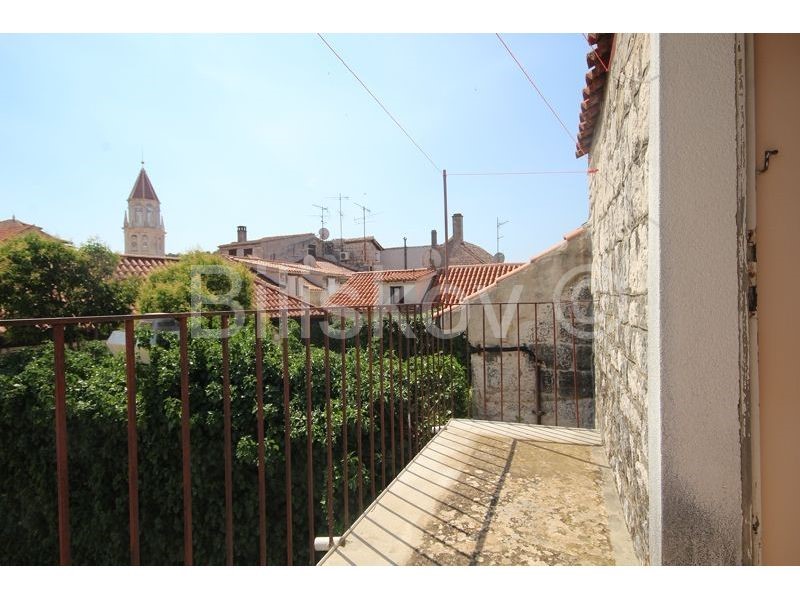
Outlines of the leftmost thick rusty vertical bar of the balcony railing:
{"type": "Polygon", "coordinates": [[[58,484],[58,556],[59,564],[69,565],[69,455],[67,445],[67,378],[64,355],[64,326],[53,328],[55,371],[56,482],[58,484]]]}

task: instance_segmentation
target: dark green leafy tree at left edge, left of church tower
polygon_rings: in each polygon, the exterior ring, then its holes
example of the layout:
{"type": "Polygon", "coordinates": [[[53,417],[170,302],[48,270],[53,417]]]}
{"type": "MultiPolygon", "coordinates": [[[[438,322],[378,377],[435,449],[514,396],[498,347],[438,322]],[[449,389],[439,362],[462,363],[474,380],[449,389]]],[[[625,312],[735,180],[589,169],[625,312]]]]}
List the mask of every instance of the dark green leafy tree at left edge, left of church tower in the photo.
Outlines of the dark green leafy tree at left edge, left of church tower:
{"type": "MultiPolygon", "coordinates": [[[[0,315],[4,318],[126,314],[136,284],[113,278],[119,258],[90,241],[80,248],[30,234],[0,246],[0,315]]],[[[97,328],[93,329],[95,332],[97,328]]],[[[12,328],[12,343],[32,343],[42,328],[12,328]]]]}

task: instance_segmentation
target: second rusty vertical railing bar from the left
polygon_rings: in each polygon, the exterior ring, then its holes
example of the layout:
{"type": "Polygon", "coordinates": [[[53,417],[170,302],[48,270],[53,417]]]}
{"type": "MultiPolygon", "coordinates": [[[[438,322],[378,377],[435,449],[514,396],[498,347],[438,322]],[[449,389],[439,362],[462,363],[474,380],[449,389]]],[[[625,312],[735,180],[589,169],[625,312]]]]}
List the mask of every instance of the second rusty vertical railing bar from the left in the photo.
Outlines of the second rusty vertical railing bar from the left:
{"type": "Polygon", "coordinates": [[[134,322],[125,321],[125,387],[128,403],[128,531],[131,564],[139,558],[139,451],[136,434],[136,340],[134,322]]]}

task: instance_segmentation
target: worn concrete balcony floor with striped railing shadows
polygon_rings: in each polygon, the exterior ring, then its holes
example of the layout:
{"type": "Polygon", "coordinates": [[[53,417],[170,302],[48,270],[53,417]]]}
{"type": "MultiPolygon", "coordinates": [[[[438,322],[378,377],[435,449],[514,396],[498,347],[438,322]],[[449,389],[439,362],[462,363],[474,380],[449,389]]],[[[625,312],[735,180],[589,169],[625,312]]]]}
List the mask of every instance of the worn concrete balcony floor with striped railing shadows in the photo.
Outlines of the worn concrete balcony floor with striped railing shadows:
{"type": "Polygon", "coordinates": [[[597,432],[456,419],[319,564],[638,563],[597,432]]]}

